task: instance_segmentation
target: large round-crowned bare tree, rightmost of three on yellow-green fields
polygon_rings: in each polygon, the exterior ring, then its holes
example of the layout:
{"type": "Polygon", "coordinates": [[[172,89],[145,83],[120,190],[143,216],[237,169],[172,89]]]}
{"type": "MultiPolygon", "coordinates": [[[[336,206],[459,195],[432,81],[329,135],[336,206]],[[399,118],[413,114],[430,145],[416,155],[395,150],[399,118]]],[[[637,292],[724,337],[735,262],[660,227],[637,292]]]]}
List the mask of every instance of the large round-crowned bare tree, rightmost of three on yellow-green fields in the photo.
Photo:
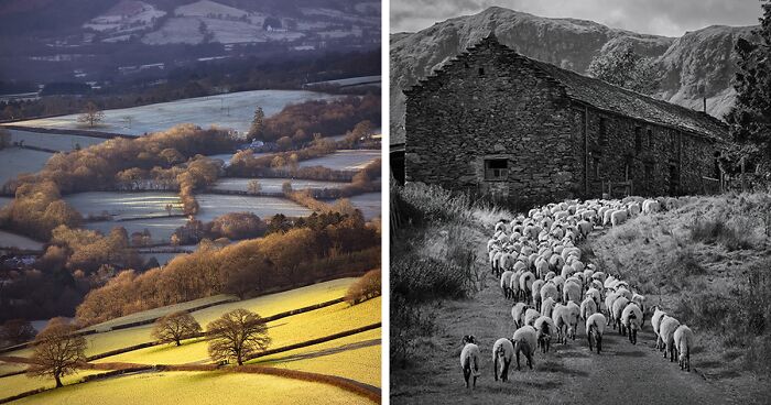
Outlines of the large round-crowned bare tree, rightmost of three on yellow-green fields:
{"type": "Polygon", "coordinates": [[[236,360],[238,365],[243,365],[245,360],[265,350],[271,342],[265,320],[242,308],[211,321],[206,330],[209,357],[215,361],[236,360]]]}

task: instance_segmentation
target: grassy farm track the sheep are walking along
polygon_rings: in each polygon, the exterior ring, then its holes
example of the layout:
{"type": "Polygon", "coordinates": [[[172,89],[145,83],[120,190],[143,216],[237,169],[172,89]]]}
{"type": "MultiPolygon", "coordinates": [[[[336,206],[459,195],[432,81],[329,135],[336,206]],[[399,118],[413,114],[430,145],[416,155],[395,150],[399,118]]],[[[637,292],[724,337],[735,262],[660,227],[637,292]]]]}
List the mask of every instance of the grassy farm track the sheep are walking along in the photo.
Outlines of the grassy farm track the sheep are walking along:
{"type": "MultiPolygon", "coordinates": [[[[597,238],[597,233],[593,232],[590,240],[597,238]]],[[[479,247],[478,256],[487,258],[482,238],[478,234],[473,243],[479,247]]],[[[650,320],[638,335],[637,346],[608,327],[601,354],[589,352],[585,328],[579,322],[576,340],[563,346],[553,339],[549,353],[537,350],[533,370],[528,369],[522,358],[522,371],[517,371],[514,360],[509,369],[509,382],[493,381],[492,343],[513,335],[511,306],[514,300],[503,298],[499,281],[490,274],[485,259],[477,265],[485,266],[487,274],[482,289],[469,299],[439,303],[435,316],[437,332],[419,346],[424,354],[405,370],[392,364],[391,403],[497,404],[514,398],[514,403],[593,405],[741,402],[738,393],[705,381],[693,365],[688,373],[681,371],[677,362],[663,359],[654,349],[650,320]],[[464,335],[475,335],[481,352],[481,376],[474,391],[464,387],[458,363],[464,335]]],[[[698,354],[695,357],[692,354],[692,363],[697,362],[698,354]]]]}

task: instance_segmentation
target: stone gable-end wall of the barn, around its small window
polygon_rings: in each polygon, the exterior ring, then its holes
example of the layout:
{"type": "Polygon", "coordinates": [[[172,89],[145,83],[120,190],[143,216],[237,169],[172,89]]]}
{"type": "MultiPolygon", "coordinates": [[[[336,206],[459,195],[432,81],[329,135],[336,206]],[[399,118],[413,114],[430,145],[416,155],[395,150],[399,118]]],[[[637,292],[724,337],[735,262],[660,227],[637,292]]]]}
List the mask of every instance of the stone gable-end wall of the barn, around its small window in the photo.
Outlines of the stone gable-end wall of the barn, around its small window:
{"type": "Polygon", "coordinates": [[[576,197],[580,162],[569,100],[528,61],[482,43],[409,92],[405,177],[515,206],[576,197]],[[506,180],[485,178],[504,158],[506,180]]]}

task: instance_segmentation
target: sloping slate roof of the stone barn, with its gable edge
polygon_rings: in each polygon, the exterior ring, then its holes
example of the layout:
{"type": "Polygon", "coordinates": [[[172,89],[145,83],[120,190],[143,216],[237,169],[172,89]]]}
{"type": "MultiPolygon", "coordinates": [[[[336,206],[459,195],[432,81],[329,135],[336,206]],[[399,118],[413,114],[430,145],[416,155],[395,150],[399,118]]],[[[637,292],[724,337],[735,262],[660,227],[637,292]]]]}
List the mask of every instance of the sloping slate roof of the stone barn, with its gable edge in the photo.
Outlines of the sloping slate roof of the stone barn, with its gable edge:
{"type": "MultiPolygon", "coordinates": [[[[728,139],[728,127],[715,117],[627,90],[607,81],[583,76],[545,62],[529,58],[500,44],[493,34],[487,36],[481,43],[469,47],[467,52],[473,53],[475,48],[485,45],[497,47],[509,57],[525,59],[529,64],[542,70],[561,85],[565,89],[567,96],[574,100],[587,103],[600,110],[654,124],[675,128],[713,140],[726,141],[728,139]]],[[[431,81],[437,74],[441,75],[442,73],[442,69],[435,72],[424,80],[421,80],[415,87],[405,91],[405,94],[409,97],[410,92],[419,90],[423,84],[431,81]]]]}

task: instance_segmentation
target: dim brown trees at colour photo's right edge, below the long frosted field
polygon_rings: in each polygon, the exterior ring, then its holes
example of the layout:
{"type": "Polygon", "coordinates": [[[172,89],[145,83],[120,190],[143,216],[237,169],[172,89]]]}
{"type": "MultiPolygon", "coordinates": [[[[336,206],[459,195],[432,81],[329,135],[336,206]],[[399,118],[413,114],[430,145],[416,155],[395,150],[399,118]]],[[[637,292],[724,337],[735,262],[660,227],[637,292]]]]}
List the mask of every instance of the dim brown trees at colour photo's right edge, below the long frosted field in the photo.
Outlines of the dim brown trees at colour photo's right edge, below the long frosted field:
{"type": "Polygon", "coordinates": [[[282,144],[302,145],[313,134],[344,134],[361,121],[380,125],[380,97],[346,97],[337,100],[311,100],[284,107],[264,120],[253,139],[282,144]]]}

